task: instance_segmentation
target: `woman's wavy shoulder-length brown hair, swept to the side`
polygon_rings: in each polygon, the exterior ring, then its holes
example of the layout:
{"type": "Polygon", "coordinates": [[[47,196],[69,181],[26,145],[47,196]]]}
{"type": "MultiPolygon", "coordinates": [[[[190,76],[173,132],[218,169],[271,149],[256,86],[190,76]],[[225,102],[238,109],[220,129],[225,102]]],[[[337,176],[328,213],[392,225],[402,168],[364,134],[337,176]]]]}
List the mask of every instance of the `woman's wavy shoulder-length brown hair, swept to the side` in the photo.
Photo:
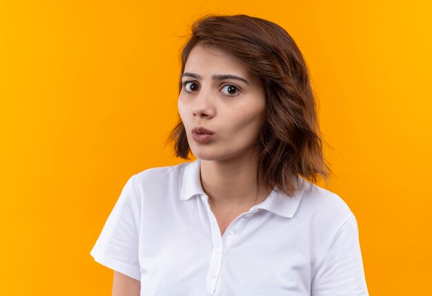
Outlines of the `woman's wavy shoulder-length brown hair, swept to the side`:
{"type": "MultiPolygon", "coordinates": [[[[323,139],[317,120],[315,96],[306,62],[291,36],[277,24],[237,15],[206,15],[195,21],[181,50],[181,74],[190,50],[197,44],[217,48],[236,57],[264,86],[266,111],[262,130],[253,146],[257,152],[257,180],[262,173],[268,188],[292,197],[300,178],[327,184],[331,169],[324,161],[323,139]]],[[[168,137],[175,155],[189,159],[186,130],[179,122],[168,137]]]]}

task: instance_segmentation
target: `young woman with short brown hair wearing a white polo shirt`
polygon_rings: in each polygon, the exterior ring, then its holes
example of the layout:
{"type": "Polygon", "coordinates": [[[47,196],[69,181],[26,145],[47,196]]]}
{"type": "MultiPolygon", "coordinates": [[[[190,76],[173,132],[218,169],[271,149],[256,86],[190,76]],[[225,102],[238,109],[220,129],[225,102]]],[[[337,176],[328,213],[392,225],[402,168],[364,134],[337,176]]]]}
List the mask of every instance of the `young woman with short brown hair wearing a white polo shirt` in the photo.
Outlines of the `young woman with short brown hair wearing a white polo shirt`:
{"type": "Polygon", "coordinates": [[[197,159],[127,181],[90,253],[113,295],[368,295],[355,216],[314,184],[330,169],[290,35],[207,16],[181,57],[170,140],[197,159]]]}

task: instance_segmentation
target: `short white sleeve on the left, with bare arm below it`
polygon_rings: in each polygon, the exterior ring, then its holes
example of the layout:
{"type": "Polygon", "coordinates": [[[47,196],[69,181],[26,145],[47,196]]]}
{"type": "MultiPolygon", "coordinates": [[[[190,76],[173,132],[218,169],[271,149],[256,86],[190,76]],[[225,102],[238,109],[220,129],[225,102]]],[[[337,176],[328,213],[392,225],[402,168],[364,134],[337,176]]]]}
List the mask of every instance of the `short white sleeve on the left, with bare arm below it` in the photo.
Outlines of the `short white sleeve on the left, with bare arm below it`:
{"type": "Polygon", "coordinates": [[[133,179],[134,176],[130,177],[121,190],[90,255],[99,264],[140,280],[138,243],[141,211],[133,179]]]}

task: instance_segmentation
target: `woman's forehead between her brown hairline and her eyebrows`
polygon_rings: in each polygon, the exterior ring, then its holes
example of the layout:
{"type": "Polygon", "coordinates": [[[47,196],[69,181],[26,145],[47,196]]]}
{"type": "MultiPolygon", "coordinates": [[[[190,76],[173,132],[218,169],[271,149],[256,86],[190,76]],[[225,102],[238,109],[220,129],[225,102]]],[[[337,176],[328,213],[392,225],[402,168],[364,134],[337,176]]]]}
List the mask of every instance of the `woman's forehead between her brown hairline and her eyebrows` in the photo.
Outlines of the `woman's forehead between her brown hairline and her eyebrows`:
{"type": "MultiPolygon", "coordinates": [[[[212,72],[212,74],[237,74],[243,77],[253,76],[239,59],[218,48],[194,46],[188,55],[184,72],[212,72]]],[[[199,74],[199,73],[197,73],[199,74]]]]}

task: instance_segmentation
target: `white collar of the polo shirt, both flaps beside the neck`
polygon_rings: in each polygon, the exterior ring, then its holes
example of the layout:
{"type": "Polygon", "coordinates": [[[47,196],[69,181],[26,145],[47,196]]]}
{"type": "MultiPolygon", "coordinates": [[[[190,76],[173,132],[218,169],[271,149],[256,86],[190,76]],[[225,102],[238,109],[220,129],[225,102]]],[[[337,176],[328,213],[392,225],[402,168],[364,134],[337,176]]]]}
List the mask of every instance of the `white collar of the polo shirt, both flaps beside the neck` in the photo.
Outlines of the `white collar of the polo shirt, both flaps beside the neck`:
{"type": "MultiPolygon", "coordinates": [[[[184,169],[183,185],[181,186],[180,199],[187,200],[196,195],[206,195],[201,185],[201,161],[196,159],[188,163],[184,169]]],[[[279,216],[292,218],[300,205],[304,188],[306,187],[304,179],[300,179],[300,190],[297,190],[295,195],[288,198],[284,193],[277,190],[277,187],[262,201],[262,203],[253,206],[253,208],[261,208],[275,213],[279,216]]]]}

